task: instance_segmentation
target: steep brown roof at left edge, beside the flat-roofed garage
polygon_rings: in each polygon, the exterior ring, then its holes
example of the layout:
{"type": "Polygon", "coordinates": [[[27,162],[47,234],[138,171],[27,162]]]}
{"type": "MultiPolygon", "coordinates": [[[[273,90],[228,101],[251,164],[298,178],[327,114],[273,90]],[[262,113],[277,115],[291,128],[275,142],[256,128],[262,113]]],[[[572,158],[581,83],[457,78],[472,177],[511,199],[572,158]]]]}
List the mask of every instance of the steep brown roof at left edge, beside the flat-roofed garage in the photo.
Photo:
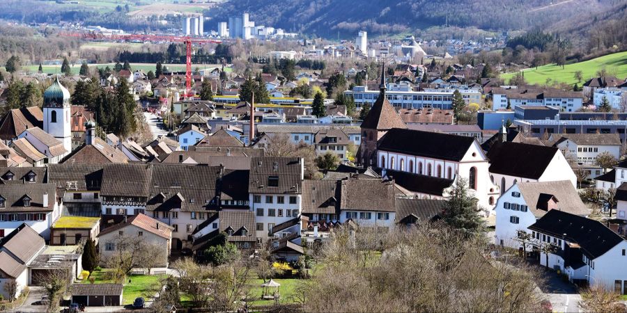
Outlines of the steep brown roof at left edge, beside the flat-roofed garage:
{"type": "Polygon", "coordinates": [[[29,262],[45,245],[43,237],[26,223],[0,239],[0,247],[15,255],[16,261],[21,264],[29,262]]]}

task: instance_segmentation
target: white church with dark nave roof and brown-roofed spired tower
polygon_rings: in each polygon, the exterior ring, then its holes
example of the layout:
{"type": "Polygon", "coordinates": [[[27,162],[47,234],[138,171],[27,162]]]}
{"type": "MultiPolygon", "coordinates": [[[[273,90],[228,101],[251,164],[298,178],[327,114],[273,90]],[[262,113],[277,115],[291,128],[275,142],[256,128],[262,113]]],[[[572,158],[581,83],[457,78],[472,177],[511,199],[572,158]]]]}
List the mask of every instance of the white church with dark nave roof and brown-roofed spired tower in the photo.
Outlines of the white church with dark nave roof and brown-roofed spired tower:
{"type": "Polygon", "coordinates": [[[385,90],[384,67],[379,97],[361,125],[359,165],[379,168],[382,176],[403,172],[416,184],[433,179],[457,182],[461,177],[479,207],[486,212],[494,207],[500,189],[490,180],[490,163],[477,139],[408,129],[385,90]]]}

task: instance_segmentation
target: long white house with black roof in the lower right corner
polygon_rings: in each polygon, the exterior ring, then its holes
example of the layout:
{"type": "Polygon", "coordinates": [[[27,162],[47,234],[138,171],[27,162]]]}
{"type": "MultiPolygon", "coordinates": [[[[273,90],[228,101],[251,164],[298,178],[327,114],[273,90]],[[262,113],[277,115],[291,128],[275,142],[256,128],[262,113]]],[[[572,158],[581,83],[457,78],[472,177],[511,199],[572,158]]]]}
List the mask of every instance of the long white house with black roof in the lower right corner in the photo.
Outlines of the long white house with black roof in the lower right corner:
{"type": "Polygon", "coordinates": [[[541,252],[541,265],[559,269],[571,282],[601,284],[619,294],[627,293],[627,241],[603,223],[554,209],[529,230],[534,246],[555,247],[548,258],[541,252]]]}

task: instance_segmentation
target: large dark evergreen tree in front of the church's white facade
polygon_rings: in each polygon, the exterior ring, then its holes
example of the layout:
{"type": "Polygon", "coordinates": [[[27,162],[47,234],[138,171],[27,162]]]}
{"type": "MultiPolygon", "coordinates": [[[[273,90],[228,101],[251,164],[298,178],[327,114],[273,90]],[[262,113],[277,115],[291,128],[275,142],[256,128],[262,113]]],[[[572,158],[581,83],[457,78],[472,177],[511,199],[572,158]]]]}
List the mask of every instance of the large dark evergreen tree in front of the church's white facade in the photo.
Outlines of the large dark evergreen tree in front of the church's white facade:
{"type": "Polygon", "coordinates": [[[466,179],[457,179],[444,203],[442,220],[470,236],[481,232],[483,221],[477,211],[477,202],[467,193],[468,187],[466,179]]]}

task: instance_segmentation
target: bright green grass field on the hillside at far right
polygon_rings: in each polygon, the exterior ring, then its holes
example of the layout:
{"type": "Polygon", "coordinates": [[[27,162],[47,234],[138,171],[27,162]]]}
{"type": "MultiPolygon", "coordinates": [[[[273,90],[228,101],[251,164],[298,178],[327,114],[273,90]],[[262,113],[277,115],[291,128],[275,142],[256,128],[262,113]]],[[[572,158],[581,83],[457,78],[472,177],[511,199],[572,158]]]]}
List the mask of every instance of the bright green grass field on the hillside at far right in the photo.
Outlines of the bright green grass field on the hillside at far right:
{"type": "MultiPolygon", "coordinates": [[[[561,66],[550,64],[538,67],[537,70],[535,67],[529,68],[523,70],[523,72],[525,72],[525,81],[531,84],[543,84],[546,83],[547,79],[551,79],[555,83],[568,83],[569,85],[578,83],[581,86],[582,83],[596,76],[596,72],[603,67],[605,67],[608,73],[624,79],[627,77],[627,51],[608,54],[607,56],[593,58],[580,63],[568,64],[564,66],[564,69],[561,66]],[[582,72],[583,79],[581,82],[575,79],[576,71],[582,72]]],[[[514,74],[516,73],[502,74],[501,77],[505,81],[509,81],[514,74]]]]}

